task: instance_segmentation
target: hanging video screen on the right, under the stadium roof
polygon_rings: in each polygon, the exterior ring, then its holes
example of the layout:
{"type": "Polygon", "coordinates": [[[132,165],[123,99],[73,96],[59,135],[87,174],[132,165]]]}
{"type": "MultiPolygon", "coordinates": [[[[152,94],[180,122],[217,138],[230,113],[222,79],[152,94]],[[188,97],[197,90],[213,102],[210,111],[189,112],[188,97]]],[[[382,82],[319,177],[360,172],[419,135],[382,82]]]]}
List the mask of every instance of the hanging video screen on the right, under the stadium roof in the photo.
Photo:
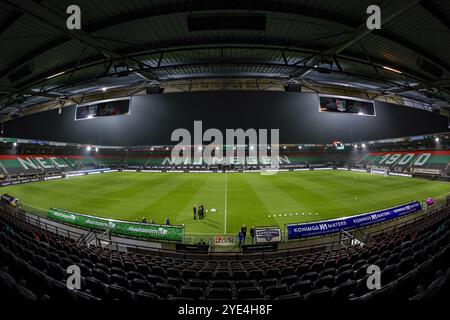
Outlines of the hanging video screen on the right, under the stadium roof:
{"type": "Polygon", "coordinates": [[[341,96],[319,95],[320,112],[350,113],[363,116],[375,116],[373,101],[341,96]]]}

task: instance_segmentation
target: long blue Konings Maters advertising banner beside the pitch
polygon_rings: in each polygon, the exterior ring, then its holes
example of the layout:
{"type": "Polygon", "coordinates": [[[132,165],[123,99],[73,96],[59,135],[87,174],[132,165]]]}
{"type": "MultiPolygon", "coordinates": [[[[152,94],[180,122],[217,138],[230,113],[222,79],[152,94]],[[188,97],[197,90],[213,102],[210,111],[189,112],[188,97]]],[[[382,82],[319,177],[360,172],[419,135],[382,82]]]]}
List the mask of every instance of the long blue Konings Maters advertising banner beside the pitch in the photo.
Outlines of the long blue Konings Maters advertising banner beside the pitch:
{"type": "Polygon", "coordinates": [[[375,223],[399,218],[421,209],[422,206],[420,203],[418,201],[413,201],[401,206],[364,213],[352,217],[311,223],[287,224],[286,229],[288,240],[325,236],[340,232],[341,230],[366,227],[375,223]]]}

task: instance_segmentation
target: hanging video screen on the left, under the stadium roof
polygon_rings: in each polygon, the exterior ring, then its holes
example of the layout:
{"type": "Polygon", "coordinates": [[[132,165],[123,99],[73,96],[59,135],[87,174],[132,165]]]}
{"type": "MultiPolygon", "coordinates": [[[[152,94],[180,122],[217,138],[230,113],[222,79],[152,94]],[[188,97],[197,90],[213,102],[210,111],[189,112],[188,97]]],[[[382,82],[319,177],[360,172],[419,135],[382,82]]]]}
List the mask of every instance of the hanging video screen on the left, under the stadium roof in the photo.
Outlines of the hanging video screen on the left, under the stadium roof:
{"type": "Polygon", "coordinates": [[[103,100],[79,105],[75,111],[75,120],[93,119],[130,114],[130,99],[103,100]]]}

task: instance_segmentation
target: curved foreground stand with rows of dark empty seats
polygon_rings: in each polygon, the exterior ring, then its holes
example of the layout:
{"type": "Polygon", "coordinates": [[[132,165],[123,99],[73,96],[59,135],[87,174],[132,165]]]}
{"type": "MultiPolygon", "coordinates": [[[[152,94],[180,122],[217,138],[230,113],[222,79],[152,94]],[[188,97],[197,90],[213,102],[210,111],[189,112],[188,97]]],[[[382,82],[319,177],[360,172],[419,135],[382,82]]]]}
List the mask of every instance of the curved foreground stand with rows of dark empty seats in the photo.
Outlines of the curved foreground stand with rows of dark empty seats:
{"type": "Polygon", "coordinates": [[[2,298],[43,300],[426,300],[450,297],[450,206],[366,246],[266,259],[201,259],[83,245],[2,208],[2,298]],[[367,267],[382,267],[380,290],[367,267]],[[65,286],[77,265],[82,290],[65,286]]]}

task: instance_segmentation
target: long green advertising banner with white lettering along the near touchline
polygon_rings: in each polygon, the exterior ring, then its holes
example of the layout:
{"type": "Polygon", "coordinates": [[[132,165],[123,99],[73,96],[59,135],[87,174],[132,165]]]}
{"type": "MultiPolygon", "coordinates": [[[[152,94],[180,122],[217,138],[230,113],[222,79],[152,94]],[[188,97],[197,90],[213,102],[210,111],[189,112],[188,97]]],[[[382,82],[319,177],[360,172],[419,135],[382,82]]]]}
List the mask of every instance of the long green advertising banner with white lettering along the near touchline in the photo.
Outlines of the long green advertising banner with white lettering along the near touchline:
{"type": "Polygon", "coordinates": [[[51,220],[88,229],[109,231],[123,236],[167,241],[182,241],[184,237],[184,226],[154,225],[104,219],[57,208],[51,208],[47,213],[47,217],[51,220]]]}

